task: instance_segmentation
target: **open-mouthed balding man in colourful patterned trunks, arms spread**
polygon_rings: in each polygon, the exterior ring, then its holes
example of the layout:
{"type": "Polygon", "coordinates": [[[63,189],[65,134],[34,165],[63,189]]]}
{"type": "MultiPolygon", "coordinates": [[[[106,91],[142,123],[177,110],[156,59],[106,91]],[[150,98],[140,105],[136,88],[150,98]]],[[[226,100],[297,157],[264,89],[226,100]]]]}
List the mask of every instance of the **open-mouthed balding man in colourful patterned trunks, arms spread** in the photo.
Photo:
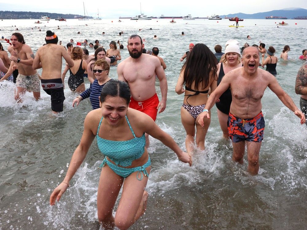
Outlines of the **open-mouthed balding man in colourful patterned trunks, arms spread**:
{"type": "Polygon", "coordinates": [[[232,140],[234,161],[243,164],[245,142],[247,143],[247,170],[257,174],[259,170],[259,151],[263,140],[264,118],[262,115],[261,98],[264,90],[269,87],[277,97],[305,123],[304,114],[296,107],[292,99],[280,87],[276,78],[269,72],[258,69],[260,56],[255,47],[247,47],[243,51],[243,67],[228,72],[219,86],[208,98],[202,113],[199,114],[199,124],[204,126],[204,120],[209,118],[208,110],[212,108],[220,95],[229,87],[232,102],[228,117],[228,133],[232,140]]]}

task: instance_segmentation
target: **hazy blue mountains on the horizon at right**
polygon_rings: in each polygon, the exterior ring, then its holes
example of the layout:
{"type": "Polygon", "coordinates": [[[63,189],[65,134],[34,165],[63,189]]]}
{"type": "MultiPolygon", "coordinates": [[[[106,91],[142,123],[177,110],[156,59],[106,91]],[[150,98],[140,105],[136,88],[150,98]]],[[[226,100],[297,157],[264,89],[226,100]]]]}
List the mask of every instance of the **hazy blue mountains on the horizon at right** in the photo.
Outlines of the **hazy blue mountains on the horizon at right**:
{"type": "Polygon", "coordinates": [[[266,17],[270,16],[276,17],[287,17],[288,19],[299,17],[299,16],[307,16],[307,10],[303,8],[286,8],[282,10],[272,10],[262,13],[253,13],[253,14],[246,14],[246,13],[233,13],[227,15],[220,15],[220,17],[224,18],[227,17],[235,17],[238,16],[239,18],[243,19],[265,19],[266,17]]]}

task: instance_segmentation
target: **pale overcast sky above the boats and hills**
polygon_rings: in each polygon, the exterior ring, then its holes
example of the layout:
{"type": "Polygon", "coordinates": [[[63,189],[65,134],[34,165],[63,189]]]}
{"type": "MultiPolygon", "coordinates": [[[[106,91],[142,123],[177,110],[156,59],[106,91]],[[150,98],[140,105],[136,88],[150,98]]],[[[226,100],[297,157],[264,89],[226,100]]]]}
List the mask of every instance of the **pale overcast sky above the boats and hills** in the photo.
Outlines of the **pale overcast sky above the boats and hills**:
{"type": "MultiPolygon", "coordinates": [[[[142,13],[147,16],[185,16],[192,14],[194,17],[206,17],[212,14],[224,15],[235,13],[259,13],[271,10],[281,10],[289,7],[307,8],[306,0],[217,0],[217,1],[84,1],[88,16],[95,17],[97,10],[99,16],[104,18],[117,18],[119,16],[135,16],[140,13],[140,2],[142,13]]],[[[72,13],[83,15],[83,1],[80,0],[0,0],[0,10],[10,11],[34,11],[50,13],[72,13]],[[31,4],[29,4],[31,2],[31,4]],[[49,4],[48,4],[49,3],[49,4]]],[[[276,15],[278,16],[278,15],[276,15]]]]}

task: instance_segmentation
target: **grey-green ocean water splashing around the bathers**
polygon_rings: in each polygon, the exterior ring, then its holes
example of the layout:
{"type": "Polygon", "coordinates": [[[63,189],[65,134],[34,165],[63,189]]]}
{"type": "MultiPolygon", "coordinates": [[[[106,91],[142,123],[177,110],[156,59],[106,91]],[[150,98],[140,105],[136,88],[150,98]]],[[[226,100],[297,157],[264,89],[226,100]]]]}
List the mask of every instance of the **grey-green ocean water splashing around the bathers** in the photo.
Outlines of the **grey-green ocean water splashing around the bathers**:
{"type": "MultiPolygon", "coordinates": [[[[122,60],[129,56],[126,44],[131,34],[145,38],[147,49],[157,46],[159,56],[167,65],[168,99],[165,111],[158,114],[156,122],[183,149],[185,130],[180,118],[183,95],[177,95],[174,89],[183,64],[179,59],[190,42],[204,43],[214,52],[216,44],[221,44],[224,50],[229,39],[238,40],[240,47],[245,42],[252,45],[261,40],[266,48],[273,45],[278,57],[283,46],[289,45],[290,60],[278,61],[276,78],[299,106],[300,96],[295,94],[294,84],[303,64],[297,58],[307,48],[307,20],[285,20],[289,25],[280,28],[275,24],[280,21],[264,19],[239,22],[245,26],[243,28],[230,28],[228,25],[234,22],[225,19],[219,22],[175,19],[176,24],[169,23],[169,19],[122,19],[120,23],[118,19],[69,19],[38,25],[34,21],[0,21],[0,36],[10,38],[18,28],[34,53],[44,43],[45,32],[49,29],[58,35],[63,45],[70,39],[75,42],[98,39],[108,48],[111,40],[120,40],[125,46],[121,50],[122,60]],[[58,25],[59,30],[56,29],[58,25]],[[78,31],[81,34],[77,34],[78,31]],[[124,31],[122,36],[118,35],[120,31],[124,31]],[[182,31],[185,36],[181,36],[182,31]],[[102,36],[102,32],[106,35],[102,36]],[[153,40],[154,34],[159,39],[153,40]],[[252,39],[247,40],[247,35],[252,39]]],[[[6,49],[8,44],[1,42],[6,49]]],[[[117,79],[116,67],[111,67],[110,77],[117,79]]],[[[68,77],[66,86],[67,80],[68,77]]],[[[89,82],[85,82],[89,86],[89,82]]],[[[158,82],[156,88],[160,96],[158,82]]],[[[43,90],[42,100],[35,102],[32,94],[26,93],[23,104],[17,104],[14,84],[4,82],[0,86],[0,229],[99,229],[96,196],[100,171],[97,167],[103,156],[95,140],[72,178],[72,186],[60,202],[53,207],[49,205],[49,196],[65,176],[72,153],[81,139],[84,118],[91,110],[89,100],[72,108],[76,94],[68,87],[65,97],[64,112],[54,116],[50,113],[50,96],[43,90]]],[[[262,111],[266,128],[256,176],[247,173],[246,156],[243,165],[232,162],[232,146],[221,138],[215,107],[212,108],[206,149],[193,155],[192,167],[179,162],[169,148],[151,138],[148,151],[152,170],[146,188],[149,193],[147,211],[130,229],[306,228],[306,127],[300,125],[299,119],[269,89],[262,98],[262,111]]]]}

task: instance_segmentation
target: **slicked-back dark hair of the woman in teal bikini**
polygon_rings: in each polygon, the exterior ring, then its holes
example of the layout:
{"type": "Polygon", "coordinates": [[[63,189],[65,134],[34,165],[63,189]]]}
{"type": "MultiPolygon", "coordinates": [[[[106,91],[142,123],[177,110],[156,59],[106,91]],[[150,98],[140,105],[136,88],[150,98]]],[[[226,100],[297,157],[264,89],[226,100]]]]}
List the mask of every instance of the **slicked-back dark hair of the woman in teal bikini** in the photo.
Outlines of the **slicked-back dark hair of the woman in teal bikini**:
{"type": "Polygon", "coordinates": [[[127,105],[129,105],[131,94],[130,88],[127,82],[113,79],[108,81],[102,88],[100,94],[100,102],[103,103],[108,97],[120,97],[123,98],[127,105]]]}

